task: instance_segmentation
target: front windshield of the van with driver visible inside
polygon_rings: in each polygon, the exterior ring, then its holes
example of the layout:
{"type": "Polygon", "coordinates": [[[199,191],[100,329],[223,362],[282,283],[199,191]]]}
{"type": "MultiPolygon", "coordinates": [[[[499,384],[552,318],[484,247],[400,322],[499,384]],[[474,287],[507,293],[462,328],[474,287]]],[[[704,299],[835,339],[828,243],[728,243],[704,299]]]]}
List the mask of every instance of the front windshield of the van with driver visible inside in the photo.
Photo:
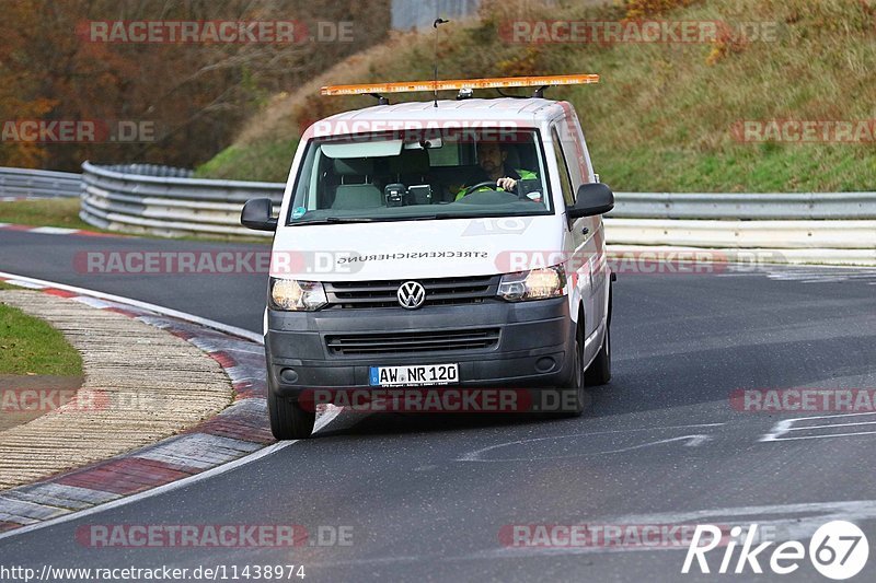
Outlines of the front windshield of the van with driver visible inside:
{"type": "Polygon", "coordinates": [[[553,212],[535,130],[310,140],[287,224],[553,212]]]}

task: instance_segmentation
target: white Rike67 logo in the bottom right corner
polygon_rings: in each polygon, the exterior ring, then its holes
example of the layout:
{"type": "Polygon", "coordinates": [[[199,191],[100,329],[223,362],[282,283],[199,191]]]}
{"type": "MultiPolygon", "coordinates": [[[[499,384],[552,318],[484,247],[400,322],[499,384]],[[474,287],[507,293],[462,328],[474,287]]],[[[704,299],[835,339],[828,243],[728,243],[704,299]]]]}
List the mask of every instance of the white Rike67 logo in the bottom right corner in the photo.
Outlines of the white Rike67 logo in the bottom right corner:
{"type": "MultiPolygon", "coordinates": [[[[806,560],[807,548],[798,540],[786,540],[774,548],[774,540],[760,543],[758,525],[752,524],[745,532],[741,526],[730,529],[730,537],[722,537],[722,530],[710,524],[696,525],[693,539],[688,547],[681,572],[687,574],[699,569],[701,573],[710,573],[706,553],[723,546],[724,556],[717,573],[763,573],[763,567],[780,575],[797,571],[806,560]],[[736,561],[734,555],[741,543],[736,561]],[[760,543],[756,546],[756,543],[760,543]],[[769,550],[768,550],[769,549],[769,550]],[[694,563],[695,560],[695,563],[694,563]],[[734,564],[735,562],[735,564],[734,564]],[[695,567],[694,567],[695,564],[695,567]]],[[[869,543],[866,535],[854,524],[846,521],[832,521],[821,525],[809,540],[808,558],[812,567],[828,579],[841,581],[850,579],[864,569],[869,556],[869,543]]],[[[712,565],[714,568],[714,564],[712,565]]]]}

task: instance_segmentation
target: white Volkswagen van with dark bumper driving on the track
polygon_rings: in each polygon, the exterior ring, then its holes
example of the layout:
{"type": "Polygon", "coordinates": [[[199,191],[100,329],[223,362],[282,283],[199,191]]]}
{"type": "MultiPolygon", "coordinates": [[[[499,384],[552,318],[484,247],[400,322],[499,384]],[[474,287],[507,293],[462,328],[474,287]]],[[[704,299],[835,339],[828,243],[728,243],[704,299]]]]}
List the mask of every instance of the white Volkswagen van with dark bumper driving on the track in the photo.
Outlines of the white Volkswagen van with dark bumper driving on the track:
{"type": "Polygon", "coordinates": [[[542,90],[460,89],[314,124],[279,217],[269,199],[244,206],[242,224],[276,231],[265,351],[277,439],[311,434],[312,389],[554,388],[568,397],[554,412],[574,416],[585,385],[609,382],[601,214],[614,197],[574,109],[542,90]]]}

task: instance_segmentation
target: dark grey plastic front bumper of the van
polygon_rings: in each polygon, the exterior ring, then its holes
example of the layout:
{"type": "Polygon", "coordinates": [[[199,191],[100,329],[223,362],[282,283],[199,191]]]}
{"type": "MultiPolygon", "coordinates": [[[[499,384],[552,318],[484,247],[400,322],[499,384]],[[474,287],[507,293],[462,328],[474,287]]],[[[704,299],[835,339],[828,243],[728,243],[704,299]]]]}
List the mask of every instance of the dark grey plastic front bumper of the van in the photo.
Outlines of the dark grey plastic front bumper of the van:
{"type": "MultiPolygon", "coordinates": [[[[572,377],[575,323],[568,300],[488,301],[471,305],[403,308],[268,310],[265,352],[269,389],[298,397],[313,388],[376,388],[371,366],[459,364],[459,383],[477,387],[557,387],[572,377]],[[330,347],[338,336],[498,330],[485,348],[399,352],[380,348],[348,354],[330,347]]],[[[334,346],[334,345],[333,345],[334,346]]]]}

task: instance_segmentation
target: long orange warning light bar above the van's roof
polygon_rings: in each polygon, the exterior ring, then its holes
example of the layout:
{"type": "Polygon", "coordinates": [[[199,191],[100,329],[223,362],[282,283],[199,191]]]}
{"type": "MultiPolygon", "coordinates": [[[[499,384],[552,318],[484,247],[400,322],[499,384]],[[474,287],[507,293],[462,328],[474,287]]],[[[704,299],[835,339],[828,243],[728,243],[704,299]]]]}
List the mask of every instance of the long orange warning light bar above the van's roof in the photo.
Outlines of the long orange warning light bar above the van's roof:
{"type": "Polygon", "coordinates": [[[322,95],[362,95],[368,93],[410,93],[415,91],[449,91],[460,89],[537,88],[551,85],[585,85],[599,83],[598,74],[553,74],[542,77],[496,77],[487,79],[446,79],[436,81],[400,81],[359,85],[328,85],[322,95]]]}

